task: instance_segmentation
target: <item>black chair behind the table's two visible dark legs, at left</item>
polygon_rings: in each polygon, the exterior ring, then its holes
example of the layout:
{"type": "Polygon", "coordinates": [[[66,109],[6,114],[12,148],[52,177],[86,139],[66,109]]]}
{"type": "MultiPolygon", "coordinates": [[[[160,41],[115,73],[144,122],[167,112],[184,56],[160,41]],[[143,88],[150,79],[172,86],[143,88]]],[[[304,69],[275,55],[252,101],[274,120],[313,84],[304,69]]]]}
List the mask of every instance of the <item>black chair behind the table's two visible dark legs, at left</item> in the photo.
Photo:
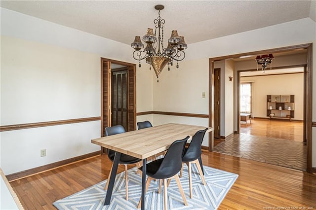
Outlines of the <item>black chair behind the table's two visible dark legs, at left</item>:
{"type": "MultiPolygon", "coordinates": [[[[121,133],[125,133],[125,129],[123,126],[121,125],[116,125],[116,126],[112,126],[112,127],[106,127],[105,128],[105,136],[111,136],[111,135],[116,135],[116,134],[121,134],[121,133]]],[[[115,156],[115,151],[111,150],[111,149],[107,149],[107,153],[108,153],[108,157],[109,159],[113,162],[114,161],[114,156],[115,156]]],[[[122,154],[120,155],[120,159],[118,164],[124,164],[124,168],[125,168],[125,191],[126,191],[126,201],[128,200],[128,179],[127,179],[127,165],[128,164],[137,164],[141,161],[141,159],[126,155],[126,154],[122,154]]],[[[140,165],[138,165],[139,167],[140,165]]],[[[110,175],[112,172],[112,167],[111,167],[111,171],[110,174],[108,176],[108,181],[104,187],[105,190],[108,189],[109,186],[109,180],[110,180],[110,175]]]]}

